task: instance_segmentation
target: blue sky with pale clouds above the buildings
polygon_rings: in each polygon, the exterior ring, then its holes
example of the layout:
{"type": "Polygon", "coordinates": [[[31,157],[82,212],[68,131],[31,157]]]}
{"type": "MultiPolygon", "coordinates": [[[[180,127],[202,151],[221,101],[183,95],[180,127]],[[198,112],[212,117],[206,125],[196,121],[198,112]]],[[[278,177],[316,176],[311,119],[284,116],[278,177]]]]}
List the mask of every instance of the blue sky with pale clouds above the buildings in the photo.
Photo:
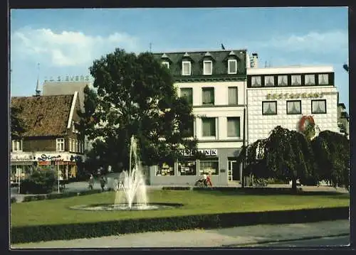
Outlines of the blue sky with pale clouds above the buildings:
{"type": "Polygon", "coordinates": [[[12,9],[11,96],[31,96],[37,77],[90,75],[115,48],[140,53],[247,49],[265,65],[333,65],[348,109],[347,7],[12,9]],[[39,70],[38,70],[38,63],[39,70]]]}

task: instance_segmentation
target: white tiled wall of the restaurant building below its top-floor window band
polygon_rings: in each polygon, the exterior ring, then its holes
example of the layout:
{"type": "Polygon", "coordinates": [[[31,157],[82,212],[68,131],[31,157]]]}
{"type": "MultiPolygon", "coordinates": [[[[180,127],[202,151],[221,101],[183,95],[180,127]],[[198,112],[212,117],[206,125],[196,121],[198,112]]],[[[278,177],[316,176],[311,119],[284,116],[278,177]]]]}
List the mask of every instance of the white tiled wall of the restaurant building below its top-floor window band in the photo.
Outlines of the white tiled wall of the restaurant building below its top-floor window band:
{"type": "Polygon", "coordinates": [[[247,126],[248,143],[265,139],[269,132],[280,125],[290,130],[298,130],[298,122],[303,115],[312,115],[315,124],[323,130],[338,132],[337,127],[337,90],[335,87],[271,87],[247,89],[247,126]],[[267,94],[295,94],[323,92],[323,97],[298,99],[266,99],[267,94]],[[311,100],[326,99],[326,114],[312,114],[311,100]],[[287,114],[287,100],[301,100],[301,114],[287,114]],[[277,101],[276,115],[263,115],[262,102],[277,101]]]}

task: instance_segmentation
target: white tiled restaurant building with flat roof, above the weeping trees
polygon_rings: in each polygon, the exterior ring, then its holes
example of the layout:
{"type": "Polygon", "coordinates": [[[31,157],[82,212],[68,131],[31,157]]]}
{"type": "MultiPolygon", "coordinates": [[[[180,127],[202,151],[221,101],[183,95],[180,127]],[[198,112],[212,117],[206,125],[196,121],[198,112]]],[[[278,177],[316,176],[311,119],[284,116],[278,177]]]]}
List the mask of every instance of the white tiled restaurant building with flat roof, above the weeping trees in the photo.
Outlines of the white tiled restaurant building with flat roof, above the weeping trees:
{"type": "Polygon", "coordinates": [[[298,131],[303,116],[312,116],[320,131],[339,131],[331,66],[248,68],[246,94],[248,143],[278,125],[298,131]]]}

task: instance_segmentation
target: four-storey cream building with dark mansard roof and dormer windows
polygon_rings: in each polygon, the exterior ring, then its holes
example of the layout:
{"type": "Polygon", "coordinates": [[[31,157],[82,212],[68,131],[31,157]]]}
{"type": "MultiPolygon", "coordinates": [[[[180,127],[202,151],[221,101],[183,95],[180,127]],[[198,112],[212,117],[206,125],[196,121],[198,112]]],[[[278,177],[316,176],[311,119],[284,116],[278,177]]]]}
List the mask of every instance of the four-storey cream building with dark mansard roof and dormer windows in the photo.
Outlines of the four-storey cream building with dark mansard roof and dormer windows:
{"type": "Polygon", "coordinates": [[[171,70],[179,97],[192,104],[194,136],[206,158],[185,159],[174,166],[153,166],[151,185],[192,185],[201,175],[211,174],[214,185],[241,178],[236,161],[244,143],[246,107],[246,50],[155,53],[171,70]]]}

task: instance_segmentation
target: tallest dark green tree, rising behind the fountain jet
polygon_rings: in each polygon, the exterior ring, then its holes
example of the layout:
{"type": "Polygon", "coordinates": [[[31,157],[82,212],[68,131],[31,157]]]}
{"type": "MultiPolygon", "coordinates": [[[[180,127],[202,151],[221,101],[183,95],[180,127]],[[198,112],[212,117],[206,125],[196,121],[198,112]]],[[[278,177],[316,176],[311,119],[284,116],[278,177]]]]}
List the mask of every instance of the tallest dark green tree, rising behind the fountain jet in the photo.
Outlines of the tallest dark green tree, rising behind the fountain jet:
{"type": "Polygon", "coordinates": [[[172,163],[181,148],[197,148],[191,137],[192,106],[177,97],[172,75],[152,53],[135,55],[117,48],[95,60],[90,74],[97,94],[85,91],[83,130],[89,139],[104,141],[105,146],[94,147],[105,151],[106,163],[128,168],[132,135],[147,166],[172,163]]]}

